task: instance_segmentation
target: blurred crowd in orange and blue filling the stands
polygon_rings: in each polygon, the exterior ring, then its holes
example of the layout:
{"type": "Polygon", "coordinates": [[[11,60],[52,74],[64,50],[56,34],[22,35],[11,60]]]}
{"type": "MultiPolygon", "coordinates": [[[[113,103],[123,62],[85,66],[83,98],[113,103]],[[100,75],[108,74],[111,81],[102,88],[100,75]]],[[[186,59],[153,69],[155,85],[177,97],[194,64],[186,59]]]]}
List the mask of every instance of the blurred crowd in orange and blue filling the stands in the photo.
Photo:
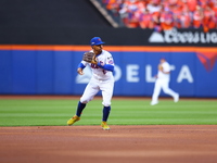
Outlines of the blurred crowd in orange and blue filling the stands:
{"type": "Polygon", "coordinates": [[[102,0],[129,28],[217,28],[217,0],[102,0]]]}

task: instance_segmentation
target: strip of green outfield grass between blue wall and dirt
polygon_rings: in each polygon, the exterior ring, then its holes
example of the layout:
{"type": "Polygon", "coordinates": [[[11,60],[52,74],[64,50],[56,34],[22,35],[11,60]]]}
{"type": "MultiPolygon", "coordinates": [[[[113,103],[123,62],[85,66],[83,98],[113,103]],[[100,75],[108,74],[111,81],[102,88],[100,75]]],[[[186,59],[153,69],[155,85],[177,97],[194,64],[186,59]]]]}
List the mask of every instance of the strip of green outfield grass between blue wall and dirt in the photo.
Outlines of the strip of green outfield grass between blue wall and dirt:
{"type": "MultiPolygon", "coordinates": [[[[0,126],[65,126],[77,100],[0,100],[0,126]]],[[[99,125],[102,101],[93,100],[75,125],[99,125]]],[[[217,125],[217,101],[113,100],[110,125],[217,125]]]]}

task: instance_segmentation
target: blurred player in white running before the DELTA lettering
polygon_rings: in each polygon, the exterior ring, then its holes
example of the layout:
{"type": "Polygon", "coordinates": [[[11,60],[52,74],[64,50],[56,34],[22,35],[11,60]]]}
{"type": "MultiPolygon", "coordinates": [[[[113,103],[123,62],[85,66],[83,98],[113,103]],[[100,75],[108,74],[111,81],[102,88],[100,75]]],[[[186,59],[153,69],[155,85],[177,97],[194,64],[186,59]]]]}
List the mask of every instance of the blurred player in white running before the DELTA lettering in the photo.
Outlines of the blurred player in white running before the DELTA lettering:
{"type": "Polygon", "coordinates": [[[165,93],[171,96],[174,98],[174,102],[179,101],[179,93],[175,92],[169,88],[169,80],[170,65],[164,58],[162,58],[158,64],[158,73],[156,75],[156,82],[152,95],[151,105],[155,105],[158,103],[158,96],[161,93],[161,89],[163,89],[165,93]]]}

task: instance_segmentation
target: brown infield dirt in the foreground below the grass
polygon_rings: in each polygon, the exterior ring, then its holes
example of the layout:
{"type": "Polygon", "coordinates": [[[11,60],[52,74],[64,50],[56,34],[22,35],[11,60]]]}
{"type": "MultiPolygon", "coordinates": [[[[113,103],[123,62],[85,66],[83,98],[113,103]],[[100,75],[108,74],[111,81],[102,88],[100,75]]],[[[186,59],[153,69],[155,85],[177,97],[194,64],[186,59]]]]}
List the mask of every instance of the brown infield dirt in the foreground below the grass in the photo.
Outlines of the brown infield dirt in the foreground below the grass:
{"type": "Polygon", "coordinates": [[[1,163],[215,163],[216,125],[0,127],[1,163]]]}

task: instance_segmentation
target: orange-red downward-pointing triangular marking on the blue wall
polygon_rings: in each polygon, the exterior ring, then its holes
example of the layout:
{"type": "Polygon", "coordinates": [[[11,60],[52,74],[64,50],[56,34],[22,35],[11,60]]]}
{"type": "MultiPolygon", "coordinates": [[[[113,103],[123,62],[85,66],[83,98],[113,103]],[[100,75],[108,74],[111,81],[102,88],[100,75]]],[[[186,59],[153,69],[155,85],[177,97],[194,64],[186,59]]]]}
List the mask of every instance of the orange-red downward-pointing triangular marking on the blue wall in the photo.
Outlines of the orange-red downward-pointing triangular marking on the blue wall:
{"type": "Polygon", "coordinates": [[[196,53],[199,60],[204,65],[207,72],[210,72],[215,65],[215,62],[217,60],[217,53],[216,52],[203,52],[203,53],[196,53]]]}

